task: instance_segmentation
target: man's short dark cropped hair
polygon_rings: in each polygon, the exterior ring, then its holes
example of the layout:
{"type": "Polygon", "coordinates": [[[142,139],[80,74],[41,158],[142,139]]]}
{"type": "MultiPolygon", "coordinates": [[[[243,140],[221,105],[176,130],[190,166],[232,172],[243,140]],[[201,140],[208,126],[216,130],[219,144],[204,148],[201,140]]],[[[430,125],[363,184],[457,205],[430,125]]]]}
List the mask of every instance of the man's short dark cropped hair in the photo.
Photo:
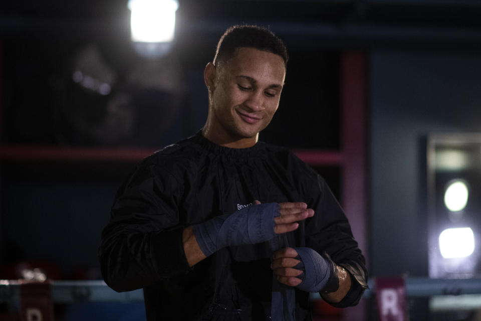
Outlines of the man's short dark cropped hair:
{"type": "Polygon", "coordinates": [[[219,60],[226,61],[232,58],[235,49],[240,47],[255,48],[279,55],[285,65],[289,60],[286,46],[272,31],[254,25],[240,25],[230,27],[220,37],[215,51],[214,65],[219,60]]]}

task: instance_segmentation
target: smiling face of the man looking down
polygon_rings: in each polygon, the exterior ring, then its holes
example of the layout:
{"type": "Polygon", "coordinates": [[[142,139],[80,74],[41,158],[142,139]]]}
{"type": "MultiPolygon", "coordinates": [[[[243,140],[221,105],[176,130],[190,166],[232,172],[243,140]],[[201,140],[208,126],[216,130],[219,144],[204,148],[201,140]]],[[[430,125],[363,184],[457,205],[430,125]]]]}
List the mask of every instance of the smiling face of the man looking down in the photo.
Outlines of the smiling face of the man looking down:
{"type": "Polygon", "coordinates": [[[286,67],[273,53],[238,48],[234,57],[215,67],[209,113],[224,141],[255,139],[279,106],[286,67]]]}

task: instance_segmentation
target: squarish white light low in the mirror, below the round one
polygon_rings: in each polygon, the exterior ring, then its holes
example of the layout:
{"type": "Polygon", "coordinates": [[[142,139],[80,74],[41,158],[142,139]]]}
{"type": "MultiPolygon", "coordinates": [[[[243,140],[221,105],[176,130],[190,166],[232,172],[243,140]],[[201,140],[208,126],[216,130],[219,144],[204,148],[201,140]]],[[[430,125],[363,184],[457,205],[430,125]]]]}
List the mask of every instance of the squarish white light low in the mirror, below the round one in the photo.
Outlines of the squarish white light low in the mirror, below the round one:
{"type": "Polygon", "coordinates": [[[444,258],[466,257],[474,252],[474,234],[469,227],[447,229],[439,235],[439,250],[444,258]]]}

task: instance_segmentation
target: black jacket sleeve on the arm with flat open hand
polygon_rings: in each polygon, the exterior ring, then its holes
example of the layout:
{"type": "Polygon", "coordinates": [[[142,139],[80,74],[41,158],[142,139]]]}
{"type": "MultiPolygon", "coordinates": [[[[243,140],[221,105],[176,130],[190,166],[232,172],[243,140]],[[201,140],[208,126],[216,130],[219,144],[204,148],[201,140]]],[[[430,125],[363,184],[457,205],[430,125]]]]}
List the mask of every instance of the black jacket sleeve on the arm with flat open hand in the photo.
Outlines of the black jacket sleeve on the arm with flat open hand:
{"type": "Polygon", "coordinates": [[[189,271],[177,206],[182,185],[170,171],[159,173],[158,166],[145,163],[117,192],[102,231],[102,276],[116,291],[189,271]]]}

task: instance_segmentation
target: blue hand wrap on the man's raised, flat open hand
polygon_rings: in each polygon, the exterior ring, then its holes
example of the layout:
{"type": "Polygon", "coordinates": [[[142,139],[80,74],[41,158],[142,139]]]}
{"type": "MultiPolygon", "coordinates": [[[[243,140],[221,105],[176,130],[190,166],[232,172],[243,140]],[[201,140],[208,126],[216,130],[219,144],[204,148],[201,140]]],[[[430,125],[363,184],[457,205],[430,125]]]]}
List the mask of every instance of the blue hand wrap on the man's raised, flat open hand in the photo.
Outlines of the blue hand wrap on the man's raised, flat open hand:
{"type": "Polygon", "coordinates": [[[226,246],[256,244],[274,238],[274,218],[279,215],[278,203],[251,205],[193,225],[192,231],[204,255],[209,256],[226,246]]]}

